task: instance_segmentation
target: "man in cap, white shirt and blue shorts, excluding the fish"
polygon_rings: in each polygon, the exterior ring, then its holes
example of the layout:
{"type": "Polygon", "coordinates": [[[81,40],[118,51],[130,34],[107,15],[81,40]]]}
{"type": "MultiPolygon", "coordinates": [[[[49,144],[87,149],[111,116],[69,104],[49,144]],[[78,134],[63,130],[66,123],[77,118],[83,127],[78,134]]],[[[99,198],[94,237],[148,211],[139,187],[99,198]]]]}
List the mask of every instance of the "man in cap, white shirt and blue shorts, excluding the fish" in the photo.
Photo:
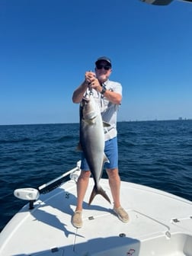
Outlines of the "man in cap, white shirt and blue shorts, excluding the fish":
{"type": "MultiPolygon", "coordinates": [[[[109,185],[114,199],[114,212],[123,222],[129,221],[129,216],[120,205],[120,176],[118,173],[118,149],[117,149],[117,111],[122,100],[122,87],[118,82],[109,80],[112,72],[111,61],[107,57],[101,57],[95,62],[95,73],[85,72],[85,81],[82,82],[73,93],[72,101],[80,103],[85,92],[92,90],[94,100],[99,104],[102,119],[110,123],[104,128],[105,148],[104,152],[109,159],[105,162],[109,178],[109,185]]],[[[82,158],[82,172],[77,183],[77,206],[72,216],[72,224],[76,228],[82,227],[82,203],[88,187],[91,172],[85,158],[82,158]]]]}

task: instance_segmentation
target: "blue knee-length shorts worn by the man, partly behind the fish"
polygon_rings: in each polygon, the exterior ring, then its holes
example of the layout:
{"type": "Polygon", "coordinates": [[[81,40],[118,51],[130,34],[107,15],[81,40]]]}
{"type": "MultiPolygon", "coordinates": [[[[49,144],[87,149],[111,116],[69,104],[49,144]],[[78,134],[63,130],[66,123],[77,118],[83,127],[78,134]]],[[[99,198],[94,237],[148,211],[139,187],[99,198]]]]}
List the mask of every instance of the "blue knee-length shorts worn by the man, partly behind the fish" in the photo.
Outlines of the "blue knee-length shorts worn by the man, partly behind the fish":
{"type": "MultiPolygon", "coordinates": [[[[104,153],[109,159],[109,162],[104,163],[104,168],[107,169],[114,169],[118,168],[118,146],[117,146],[117,137],[114,139],[109,139],[105,142],[104,145],[104,153]]],[[[85,155],[82,152],[82,164],[81,164],[82,171],[90,171],[88,167],[88,163],[85,159],[85,155]]]]}

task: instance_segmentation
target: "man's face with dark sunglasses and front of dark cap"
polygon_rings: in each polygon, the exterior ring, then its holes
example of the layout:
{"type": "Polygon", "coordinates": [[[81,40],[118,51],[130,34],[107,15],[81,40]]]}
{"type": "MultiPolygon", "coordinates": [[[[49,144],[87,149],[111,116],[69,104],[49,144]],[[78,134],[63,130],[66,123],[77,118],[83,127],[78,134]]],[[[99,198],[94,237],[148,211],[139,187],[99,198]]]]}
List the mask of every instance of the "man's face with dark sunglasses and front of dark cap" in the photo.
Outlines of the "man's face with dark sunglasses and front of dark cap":
{"type": "Polygon", "coordinates": [[[100,82],[105,82],[110,76],[112,69],[108,62],[101,60],[95,67],[95,73],[100,82]]]}

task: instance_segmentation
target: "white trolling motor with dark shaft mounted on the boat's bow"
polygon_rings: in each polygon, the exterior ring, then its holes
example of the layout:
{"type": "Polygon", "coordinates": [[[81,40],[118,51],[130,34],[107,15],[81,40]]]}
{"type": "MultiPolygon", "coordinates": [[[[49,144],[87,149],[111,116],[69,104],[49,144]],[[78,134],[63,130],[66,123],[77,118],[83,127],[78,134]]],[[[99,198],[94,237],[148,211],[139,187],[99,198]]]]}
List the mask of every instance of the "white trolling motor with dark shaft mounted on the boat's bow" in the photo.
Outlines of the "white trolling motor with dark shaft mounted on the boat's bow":
{"type": "Polygon", "coordinates": [[[34,209],[34,202],[40,197],[40,194],[46,194],[46,193],[50,192],[51,190],[54,190],[56,187],[59,187],[63,182],[65,182],[65,178],[67,175],[70,174],[70,179],[77,182],[78,176],[81,171],[80,166],[81,166],[81,161],[78,161],[75,168],[73,168],[70,171],[67,171],[66,173],[62,174],[58,178],[55,178],[54,180],[41,185],[40,187],[18,188],[16,190],[14,190],[14,197],[17,197],[21,200],[29,201],[29,203],[30,203],[29,209],[30,210],[34,209]]]}

